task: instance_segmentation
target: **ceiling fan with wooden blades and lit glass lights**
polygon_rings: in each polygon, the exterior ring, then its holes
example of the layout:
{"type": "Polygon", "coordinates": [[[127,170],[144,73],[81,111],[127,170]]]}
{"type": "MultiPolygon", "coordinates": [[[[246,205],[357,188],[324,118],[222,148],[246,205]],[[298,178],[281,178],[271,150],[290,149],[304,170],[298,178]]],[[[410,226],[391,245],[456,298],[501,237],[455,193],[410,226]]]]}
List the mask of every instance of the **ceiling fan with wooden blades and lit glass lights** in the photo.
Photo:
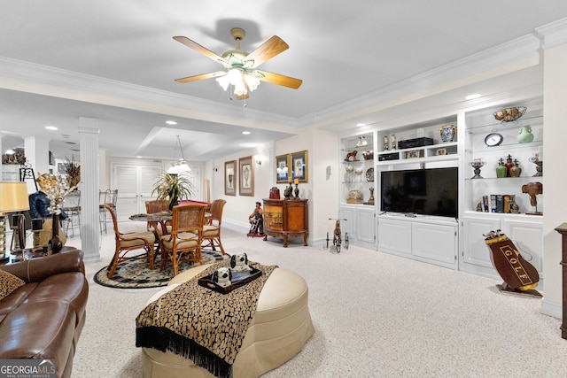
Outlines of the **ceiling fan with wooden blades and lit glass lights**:
{"type": "Polygon", "coordinates": [[[240,41],[246,35],[244,29],[235,27],[230,30],[230,34],[237,41],[237,48],[235,50],[228,50],[219,56],[213,51],[206,49],[197,42],[191,41],[184,36],[175,36],[177,42],[183,43],[185,46],[200,52],[207,58],[213,59],[215,62],[220,63],[224,70],[216,71],[214,73],[203,73],[194,76],[188,76],[181,79],[176,79],[177,82],[191,82],[209,78],[216,78],[224,90],[229,88],[229,85],[234,88],[234,94],[238,100],[248,98],[252,90],[258,88],[260,81],[267,81],[273,84],[282,85],[291,89],[298,89],[302,80],[295,79],[289,76],[283,76],[279,73],[268,73],[256,69],[262,63],[271,58],[276,57],[277,54],[289,49],[290,46],[277,35],[272,36],[268,41],[262,43],[260,47],[248,53],[240,50],[240,41]]]}

